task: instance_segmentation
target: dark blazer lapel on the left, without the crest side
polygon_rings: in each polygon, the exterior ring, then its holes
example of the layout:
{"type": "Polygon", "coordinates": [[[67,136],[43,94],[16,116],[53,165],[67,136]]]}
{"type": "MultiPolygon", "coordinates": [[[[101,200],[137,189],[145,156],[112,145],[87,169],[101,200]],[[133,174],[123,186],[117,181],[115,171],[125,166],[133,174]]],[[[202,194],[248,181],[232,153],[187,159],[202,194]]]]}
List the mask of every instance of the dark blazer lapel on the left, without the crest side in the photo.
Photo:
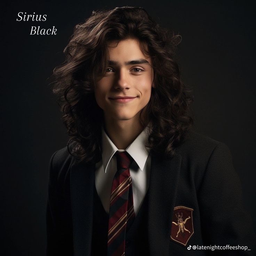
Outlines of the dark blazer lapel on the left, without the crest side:
{"type": "Polygon", "coordinates": [[[70,193],[74,256],[91,255],[95,166],[75,162],[71,167],[70,193]]]}

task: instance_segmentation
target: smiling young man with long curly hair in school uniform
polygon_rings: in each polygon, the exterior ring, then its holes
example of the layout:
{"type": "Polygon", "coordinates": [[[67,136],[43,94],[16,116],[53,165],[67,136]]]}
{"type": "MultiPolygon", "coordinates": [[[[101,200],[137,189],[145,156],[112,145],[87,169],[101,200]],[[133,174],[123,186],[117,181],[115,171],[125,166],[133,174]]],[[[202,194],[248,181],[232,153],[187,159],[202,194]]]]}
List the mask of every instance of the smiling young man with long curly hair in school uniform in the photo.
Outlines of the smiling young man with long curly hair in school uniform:
{"type": "Polygon", "coordinates": [[[75,27],[54,72],[71,138],[50,160],[48,255],[255,253],[229,149],[189,131],[178,42],[143,8],[75,27]]]}

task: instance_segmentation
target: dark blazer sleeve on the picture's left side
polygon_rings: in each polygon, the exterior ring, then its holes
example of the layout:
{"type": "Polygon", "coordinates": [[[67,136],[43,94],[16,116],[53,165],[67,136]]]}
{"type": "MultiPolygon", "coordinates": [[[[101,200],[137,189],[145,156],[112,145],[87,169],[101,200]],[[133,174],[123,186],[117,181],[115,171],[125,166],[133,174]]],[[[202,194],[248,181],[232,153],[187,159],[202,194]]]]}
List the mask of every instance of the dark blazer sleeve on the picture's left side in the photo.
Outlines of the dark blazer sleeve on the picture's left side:
{"type": "Polygon", "coordinates": [[[46,210],[47,249],[46,255],[73,255],[72,222],[70,220],[69,192],[64,189],[60,174],[63,163],[56,156],[49,163],[48,201],[46,210]]]}

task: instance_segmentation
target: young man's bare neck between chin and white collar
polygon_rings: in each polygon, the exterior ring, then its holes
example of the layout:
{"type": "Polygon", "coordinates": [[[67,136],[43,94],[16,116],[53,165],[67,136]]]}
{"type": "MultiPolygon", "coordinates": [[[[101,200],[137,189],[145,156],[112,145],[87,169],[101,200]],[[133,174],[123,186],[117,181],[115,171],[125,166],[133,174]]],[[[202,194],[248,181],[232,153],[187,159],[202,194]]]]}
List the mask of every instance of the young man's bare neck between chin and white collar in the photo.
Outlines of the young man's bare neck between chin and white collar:
{"type": "Polygon", "coordinates": [[[105,131],[118,149],[126,149],[143,131],[142,123],[137,120],[106,120],[105,131]]]}

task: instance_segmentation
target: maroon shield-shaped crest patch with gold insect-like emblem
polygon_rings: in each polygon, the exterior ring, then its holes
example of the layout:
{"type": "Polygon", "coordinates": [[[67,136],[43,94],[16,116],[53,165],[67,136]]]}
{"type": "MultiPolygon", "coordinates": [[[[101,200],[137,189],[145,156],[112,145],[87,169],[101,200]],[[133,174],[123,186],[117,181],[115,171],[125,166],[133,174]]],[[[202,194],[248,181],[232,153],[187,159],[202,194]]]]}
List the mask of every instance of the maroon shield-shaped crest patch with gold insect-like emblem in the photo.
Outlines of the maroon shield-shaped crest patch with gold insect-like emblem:
{"type": "Polygon", "coordinates": [[[193,234],[193,209],[185,206],[174,207],[171,239],[186,246],[193,234]]]}

